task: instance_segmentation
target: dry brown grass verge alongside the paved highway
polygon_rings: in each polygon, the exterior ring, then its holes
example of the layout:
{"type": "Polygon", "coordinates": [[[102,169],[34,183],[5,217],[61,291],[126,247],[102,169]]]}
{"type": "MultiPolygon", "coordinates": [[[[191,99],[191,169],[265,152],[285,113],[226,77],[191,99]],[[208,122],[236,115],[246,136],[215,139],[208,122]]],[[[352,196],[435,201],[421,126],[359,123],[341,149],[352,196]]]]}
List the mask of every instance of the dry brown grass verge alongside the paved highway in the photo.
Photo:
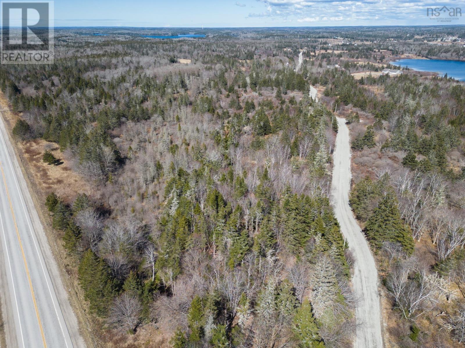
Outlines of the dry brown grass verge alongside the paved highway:
{"type": "MultiPolygon", "coordinates": [[[[83,293],[77,280],[76,261],[66,254],[61,236],[51,227],[51,219],[44,205],[47,193],[41,188],[43,185],[37,182],[37,178],[40,177],[41,173],[37,173],[37,166],[33,166],[30,161],[27,160],[25,148],[19,146],[19,144],[12,139],[11,132],[19,116],[11,111],[6,97],[1,92],[0,109],[8,135],[13,144],[14,153],[18,158],[29,193],[31,194],[34,206],[44,227],[48,245],[57,263],[61,281],[67,290],[68,300],[78,320],[80,335],[84,339],[87,347],[100,348],[102,347],[102,342],[98,340],[100,336],[98,330],[100,328],[100,323],[96,322],[93,316],[87,312],[86,301],[84,300],[83,293]]],[[[1,323],[0,316],[0,347],[3,346],[5,340],[4,330],[2,330],[3,325],[1,323]]]]}

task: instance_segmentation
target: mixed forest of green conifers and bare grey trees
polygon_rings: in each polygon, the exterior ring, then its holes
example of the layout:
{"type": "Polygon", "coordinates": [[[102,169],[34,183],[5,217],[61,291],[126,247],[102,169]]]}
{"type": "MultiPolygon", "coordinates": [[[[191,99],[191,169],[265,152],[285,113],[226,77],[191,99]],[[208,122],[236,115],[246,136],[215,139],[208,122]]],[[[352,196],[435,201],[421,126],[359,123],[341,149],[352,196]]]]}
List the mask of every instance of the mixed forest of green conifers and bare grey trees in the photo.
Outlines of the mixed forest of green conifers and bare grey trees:
{"type": "Polygon", "coordinates": [[[464,59],[406,41],[449,35],[435,28],[63,29],[54,64],[2,65],[16,141],[55,144],[61,158],[43,161],[91,188],[50,189],[44,204],[92,344],[351,347],[360,299],[330,204],[335,115],[351,129],[350,204],[389,303],[386,342],[464,343],[465,86],[352,76],[391,67],[382,51],[464,59]],[[338,53],[334,37],[348,39],[338,53]]]}

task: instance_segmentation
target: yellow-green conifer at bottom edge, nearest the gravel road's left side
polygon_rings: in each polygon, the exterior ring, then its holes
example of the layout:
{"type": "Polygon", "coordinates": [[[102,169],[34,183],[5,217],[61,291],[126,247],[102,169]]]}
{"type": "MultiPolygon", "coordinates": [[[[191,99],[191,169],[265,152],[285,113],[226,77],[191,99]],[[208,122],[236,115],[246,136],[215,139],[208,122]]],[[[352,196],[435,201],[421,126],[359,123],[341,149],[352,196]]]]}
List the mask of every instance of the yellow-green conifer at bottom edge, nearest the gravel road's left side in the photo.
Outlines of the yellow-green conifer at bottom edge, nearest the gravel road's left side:
{"type": "Polygon", "coordinates": [[[324,348],[318,326],[313,318],[312,306],[305,299],[292,320],[292,332],[301,348],[324,348]]]}

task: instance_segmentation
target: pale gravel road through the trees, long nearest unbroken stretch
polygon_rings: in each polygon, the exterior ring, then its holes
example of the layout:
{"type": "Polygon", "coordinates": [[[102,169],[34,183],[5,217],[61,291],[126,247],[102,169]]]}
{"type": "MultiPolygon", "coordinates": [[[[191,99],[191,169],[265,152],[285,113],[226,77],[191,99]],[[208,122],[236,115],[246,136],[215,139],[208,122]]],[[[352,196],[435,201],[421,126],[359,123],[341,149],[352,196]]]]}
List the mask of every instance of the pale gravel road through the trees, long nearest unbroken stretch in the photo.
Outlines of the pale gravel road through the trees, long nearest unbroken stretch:
{"type": "Polygon", "coordinates": [[[334,151],[331,193],[336,218],[355,258],[352,286],[359,301],[355,309],[357,335],[354,347],[382,348],[378,272],[365,236],[349,206],[351,181],[349,129],[344,118],[337,117],[337,119],[339,131],[334,151]]]}

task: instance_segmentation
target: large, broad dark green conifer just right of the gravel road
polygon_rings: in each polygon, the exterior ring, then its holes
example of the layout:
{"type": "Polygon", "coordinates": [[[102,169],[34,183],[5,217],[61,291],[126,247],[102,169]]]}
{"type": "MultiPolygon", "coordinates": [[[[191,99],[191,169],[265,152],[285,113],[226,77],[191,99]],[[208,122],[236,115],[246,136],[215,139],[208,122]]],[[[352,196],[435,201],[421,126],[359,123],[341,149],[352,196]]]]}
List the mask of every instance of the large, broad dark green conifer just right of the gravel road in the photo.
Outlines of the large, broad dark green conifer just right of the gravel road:
{"type": "Polygon", "coordinates": [[[377,247],[383,242],[394,242],[400,243],[406,253],[413,252],[412,232],[400,219],[398,201],[392,190],[388,190],[366,221],[365,234],[377,247]]]}

